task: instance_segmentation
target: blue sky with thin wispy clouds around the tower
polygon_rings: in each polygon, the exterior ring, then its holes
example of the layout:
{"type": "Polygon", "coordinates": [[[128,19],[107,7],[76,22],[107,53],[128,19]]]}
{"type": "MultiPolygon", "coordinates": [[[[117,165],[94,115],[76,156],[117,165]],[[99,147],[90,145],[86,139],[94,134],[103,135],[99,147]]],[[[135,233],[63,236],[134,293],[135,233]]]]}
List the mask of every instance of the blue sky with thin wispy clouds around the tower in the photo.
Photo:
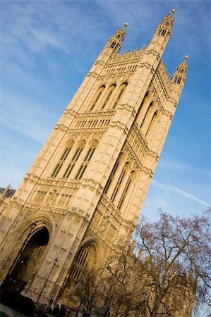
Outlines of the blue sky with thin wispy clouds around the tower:
{"type": "Polygon", "coordinates": [[[172,9],[164,62],[188,55],[188,78],[143,213],[189,215],[210,204],[210,1],[2,1],[0,187],[17,188],[115,30],[140,49],[172,9]]]}

